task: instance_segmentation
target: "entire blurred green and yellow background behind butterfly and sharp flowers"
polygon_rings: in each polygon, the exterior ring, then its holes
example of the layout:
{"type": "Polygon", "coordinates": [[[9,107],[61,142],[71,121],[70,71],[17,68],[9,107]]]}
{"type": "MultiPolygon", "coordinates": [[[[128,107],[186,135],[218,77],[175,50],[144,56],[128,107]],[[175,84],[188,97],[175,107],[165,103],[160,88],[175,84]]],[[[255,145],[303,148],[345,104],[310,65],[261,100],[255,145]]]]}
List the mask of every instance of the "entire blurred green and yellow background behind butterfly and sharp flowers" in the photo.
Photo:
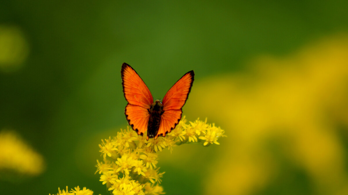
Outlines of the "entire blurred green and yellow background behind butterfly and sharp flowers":
{"type": "Polygon", "coordinates": [[[126,128],[120,68],[220,145],[160,154],[167,194],[348,194],[347,1],[0,1],[1,194],[80,186],[126,128]],[[10,157],[9,157],[10,156],[10,157]]]}

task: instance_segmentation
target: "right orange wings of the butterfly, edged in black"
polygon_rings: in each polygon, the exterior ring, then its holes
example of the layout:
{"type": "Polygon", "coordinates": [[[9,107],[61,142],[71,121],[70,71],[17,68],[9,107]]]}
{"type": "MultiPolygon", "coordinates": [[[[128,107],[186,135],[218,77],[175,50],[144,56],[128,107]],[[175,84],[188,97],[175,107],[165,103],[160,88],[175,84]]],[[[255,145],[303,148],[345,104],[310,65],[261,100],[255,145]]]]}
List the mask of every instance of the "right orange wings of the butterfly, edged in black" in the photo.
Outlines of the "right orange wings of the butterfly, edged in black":
{"type": "Polygon", "coordinates": [[[187,97],[191,91],[192,83],[195,77],[193,70],[184,74],[166,93],[163,98],[163,114],[155,139],[161,135],[165,136],[179,123],[187,97]]]}

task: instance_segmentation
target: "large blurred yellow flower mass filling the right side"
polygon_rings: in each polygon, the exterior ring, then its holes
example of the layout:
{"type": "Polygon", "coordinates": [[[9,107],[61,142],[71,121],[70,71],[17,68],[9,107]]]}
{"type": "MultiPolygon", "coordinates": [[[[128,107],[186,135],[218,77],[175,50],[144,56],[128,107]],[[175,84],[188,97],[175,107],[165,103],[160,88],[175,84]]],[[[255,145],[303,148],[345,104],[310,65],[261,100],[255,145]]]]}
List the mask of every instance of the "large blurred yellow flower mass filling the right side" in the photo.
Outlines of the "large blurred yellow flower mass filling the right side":
{"type": "Polygon", "coordinates": [[[197,82],[190,98],[195,102],[186,111],[207,116],[229,135],[206,194],[262,191],[287,174],[279,168],[287,166],[280,158],[304,170],[315,192],[346,191],[347,149],[337,126],[348,126],[348,36],[284,58],[260,57],[245,73],[197,82]],[[279,143],[278,153],[270,150],[270,140],[279,143]]]}

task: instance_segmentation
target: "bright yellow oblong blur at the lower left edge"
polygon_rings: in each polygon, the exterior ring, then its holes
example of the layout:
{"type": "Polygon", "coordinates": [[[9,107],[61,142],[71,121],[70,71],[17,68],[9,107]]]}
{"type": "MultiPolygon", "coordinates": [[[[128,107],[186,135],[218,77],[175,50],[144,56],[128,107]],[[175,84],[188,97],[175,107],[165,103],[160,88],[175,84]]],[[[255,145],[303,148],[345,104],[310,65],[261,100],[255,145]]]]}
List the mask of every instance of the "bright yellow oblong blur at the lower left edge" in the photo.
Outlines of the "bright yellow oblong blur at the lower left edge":
{"type": "Polygon", "coordinates": [[[44,170],[43,157],[13,131],[0,131],[0,172],[13,171],[35,176],[44,170]]]}

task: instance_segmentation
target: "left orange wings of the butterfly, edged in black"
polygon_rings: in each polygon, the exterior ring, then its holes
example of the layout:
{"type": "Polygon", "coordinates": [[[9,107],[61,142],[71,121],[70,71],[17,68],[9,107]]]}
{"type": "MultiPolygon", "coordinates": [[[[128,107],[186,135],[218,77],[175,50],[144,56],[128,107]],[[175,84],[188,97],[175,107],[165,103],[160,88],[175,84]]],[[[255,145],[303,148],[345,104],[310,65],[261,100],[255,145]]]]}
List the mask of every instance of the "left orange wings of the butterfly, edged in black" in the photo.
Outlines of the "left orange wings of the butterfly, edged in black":
{"type": "Polygon", "coordinates": [[[122,64],[121,77],[123,93],[128,102],[126,118],[138,135],[143,135],[148,128],[148,109],[153,103],[152,95],[140,76],[127,63],[122,64]]]}

